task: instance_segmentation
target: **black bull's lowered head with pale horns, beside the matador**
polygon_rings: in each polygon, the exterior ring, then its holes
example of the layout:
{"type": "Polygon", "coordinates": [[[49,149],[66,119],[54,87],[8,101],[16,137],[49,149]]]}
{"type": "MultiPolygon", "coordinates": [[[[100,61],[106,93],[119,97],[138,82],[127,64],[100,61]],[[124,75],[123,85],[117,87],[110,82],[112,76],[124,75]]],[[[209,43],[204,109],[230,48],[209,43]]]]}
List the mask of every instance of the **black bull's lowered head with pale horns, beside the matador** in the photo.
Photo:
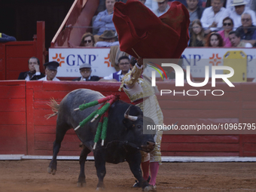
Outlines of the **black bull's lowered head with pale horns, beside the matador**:
{"type": "MultiPolygon", "coordinates": [[[[129,130],[128,132],[130,132],[130,134],[128,134],[128,139],[142,151],[153,151],[155,145],[153,135],[143,134],[143,117],[130,115],[130,108],[131,105],[124,113],[125,119],[123,120],[124,125],[129,130]]],[[[150,118],[146,117],[146,120],[154,123],[150,118]]]]}

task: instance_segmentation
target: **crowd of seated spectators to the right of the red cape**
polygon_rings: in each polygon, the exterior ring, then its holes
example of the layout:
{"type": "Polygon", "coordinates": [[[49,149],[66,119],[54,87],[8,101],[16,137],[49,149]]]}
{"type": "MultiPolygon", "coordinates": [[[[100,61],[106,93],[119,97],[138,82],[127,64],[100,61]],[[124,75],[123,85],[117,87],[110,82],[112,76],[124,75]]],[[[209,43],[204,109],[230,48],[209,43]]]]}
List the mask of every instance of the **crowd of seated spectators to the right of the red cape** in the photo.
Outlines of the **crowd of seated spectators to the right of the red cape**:
{"type": "Polygon", "coordinates": [[[200,17],[203,8],[200,8],[198,1],[187,0],[191,22],[189,47],[256,47],[255,1],[212,0],[207,1],[207,5],[211,6],[205,8],[200,17]],[[236,46],[231,43],[231,39],[235,38],[233,31],[239,35],[237,41],[240,41],[236,46]],[[218,46],[215,46],[215,40],[218,46]]]}

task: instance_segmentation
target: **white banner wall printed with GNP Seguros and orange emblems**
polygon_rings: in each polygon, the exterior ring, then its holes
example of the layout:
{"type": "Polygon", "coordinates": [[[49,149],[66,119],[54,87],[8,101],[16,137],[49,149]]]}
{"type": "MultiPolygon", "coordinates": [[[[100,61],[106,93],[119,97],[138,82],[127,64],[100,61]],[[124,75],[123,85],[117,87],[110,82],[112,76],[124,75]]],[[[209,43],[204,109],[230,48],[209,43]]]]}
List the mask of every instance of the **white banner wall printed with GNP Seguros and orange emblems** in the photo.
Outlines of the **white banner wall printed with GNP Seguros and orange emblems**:
{"type": "MultiPolygon", "coordinates": [[[[92,75],[104,77],[115,72],[109,61],[110,48],[50,48],[49,61],[56,60],[60,63],[57,77],[79,77],[79,66],[90,63],[92,75]]],[[[256,49],[254,48],[191,48],[187,47],[182,53],[183,65],[190,66],[194,78],[204,78],[205,66],[223,66],[224,55],[228,51],[242,50],[247,59],[247,78],[256,78],[256,49]]],[[[146,75],[151,76],[152,69],[146,69],[146,75]]],[[[160,75],[158,75],[160,77],[160,75]]],[[[157,77],[158,77],[157,76],[157,77]]]]}

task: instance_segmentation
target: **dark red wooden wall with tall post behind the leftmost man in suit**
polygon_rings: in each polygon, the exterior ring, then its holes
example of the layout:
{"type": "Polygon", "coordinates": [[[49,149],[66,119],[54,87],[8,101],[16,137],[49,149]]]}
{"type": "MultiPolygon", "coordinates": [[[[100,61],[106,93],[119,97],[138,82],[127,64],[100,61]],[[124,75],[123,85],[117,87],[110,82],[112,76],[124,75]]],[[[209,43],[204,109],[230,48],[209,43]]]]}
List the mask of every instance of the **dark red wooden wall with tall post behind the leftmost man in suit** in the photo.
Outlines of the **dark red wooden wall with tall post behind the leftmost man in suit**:
{"type": "Polygon", "coordinates": [[[29,71],[28,60],[32,56],[38,57],[40,70],[44,72],[44,31],[44,21],[38,21],[34,41],[0,43],[0,80],[17,80],[20,72],[29,71]]]}

